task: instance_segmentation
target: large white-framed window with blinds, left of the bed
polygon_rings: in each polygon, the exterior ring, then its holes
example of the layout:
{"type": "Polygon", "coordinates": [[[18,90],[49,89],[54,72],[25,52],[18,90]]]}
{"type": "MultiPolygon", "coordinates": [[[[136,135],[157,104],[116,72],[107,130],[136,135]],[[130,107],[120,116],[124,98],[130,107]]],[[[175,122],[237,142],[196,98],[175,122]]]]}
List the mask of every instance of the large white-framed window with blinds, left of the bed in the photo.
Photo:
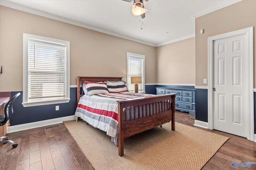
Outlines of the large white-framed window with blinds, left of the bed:
{"type": "Polygon", "coordinates": [[[23,106],[68,103],[70,42],[23,34],[23,106]]]}

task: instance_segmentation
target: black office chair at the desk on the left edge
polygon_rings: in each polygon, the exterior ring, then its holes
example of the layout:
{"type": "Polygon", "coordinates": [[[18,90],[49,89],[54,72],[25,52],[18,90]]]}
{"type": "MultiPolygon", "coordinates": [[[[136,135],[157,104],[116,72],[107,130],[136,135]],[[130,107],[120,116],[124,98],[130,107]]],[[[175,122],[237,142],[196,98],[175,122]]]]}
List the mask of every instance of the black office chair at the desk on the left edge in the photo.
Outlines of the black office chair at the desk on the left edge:
{"type": "MultiPolygon", "coordinates": [[[[0,115],[0,126],[5,125],[7,123],[7,121],[12,117],[12,114],[13,114],[12,104],[18,96],[20,96],[20,93],[13,96],[6,103],[6,106],[4,107],[4,115],[0,115]]],[[[8,136],[0,137],[0,143],[7,143],[7,142],[12,143],[12,147],[14,147],[14,148],[16,148],[18,146],[18,143],[14,143],[13,141],[10,141],[8,136]]]]}

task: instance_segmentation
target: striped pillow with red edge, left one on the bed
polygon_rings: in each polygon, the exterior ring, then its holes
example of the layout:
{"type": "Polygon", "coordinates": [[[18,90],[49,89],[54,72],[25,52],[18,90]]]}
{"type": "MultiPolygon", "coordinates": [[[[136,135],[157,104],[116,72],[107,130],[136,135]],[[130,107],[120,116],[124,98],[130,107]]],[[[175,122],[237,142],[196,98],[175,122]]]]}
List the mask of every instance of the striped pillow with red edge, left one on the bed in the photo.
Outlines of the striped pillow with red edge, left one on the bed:
{"type": "Polygon", "coordinates": [[[108,94],[108,88],[106,82],[84,82],[86,89],[88,91],[88,95],[94,95],[94,94],[108,94]]]}

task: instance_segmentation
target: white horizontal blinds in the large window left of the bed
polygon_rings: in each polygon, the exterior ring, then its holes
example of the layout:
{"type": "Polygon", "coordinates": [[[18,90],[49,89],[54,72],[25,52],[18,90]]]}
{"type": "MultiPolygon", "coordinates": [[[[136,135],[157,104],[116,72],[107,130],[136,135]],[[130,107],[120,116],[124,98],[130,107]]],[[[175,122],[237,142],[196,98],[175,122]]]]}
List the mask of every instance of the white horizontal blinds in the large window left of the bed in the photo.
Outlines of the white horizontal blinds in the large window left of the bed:
{"type": "Polygon", "coordinates": [[[66,47],[28,41],[28,101],[64,98],[66,47]]]}

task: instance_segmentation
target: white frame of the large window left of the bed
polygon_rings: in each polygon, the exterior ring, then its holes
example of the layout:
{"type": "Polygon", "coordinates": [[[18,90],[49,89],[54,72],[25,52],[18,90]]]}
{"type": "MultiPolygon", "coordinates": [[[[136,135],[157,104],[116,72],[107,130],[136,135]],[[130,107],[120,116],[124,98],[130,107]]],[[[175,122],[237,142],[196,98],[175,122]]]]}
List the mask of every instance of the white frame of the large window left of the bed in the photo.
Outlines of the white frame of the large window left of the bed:
{"type": "Polygon", "coordinates": [[[49,105],[49,104],[61,104],[61,103],[68,103],[70,101],[70,42],[53,39],[48,37],[42,37],[38,35],[31,35],[23,33],[23,98],[22,98],[22,105],[24,107],[30,106],[42,106],[42,105],[49,105]],[[45,44],[61,44],[66,46],[66,71],[65,71],[65,78],[66,78],[66,86],[65,96],[62,99],[53,99],[53,100],[44,100],[44,101],[28,101],[28,41],[29,40],[36,40],[42,41],[45,44]]]}

